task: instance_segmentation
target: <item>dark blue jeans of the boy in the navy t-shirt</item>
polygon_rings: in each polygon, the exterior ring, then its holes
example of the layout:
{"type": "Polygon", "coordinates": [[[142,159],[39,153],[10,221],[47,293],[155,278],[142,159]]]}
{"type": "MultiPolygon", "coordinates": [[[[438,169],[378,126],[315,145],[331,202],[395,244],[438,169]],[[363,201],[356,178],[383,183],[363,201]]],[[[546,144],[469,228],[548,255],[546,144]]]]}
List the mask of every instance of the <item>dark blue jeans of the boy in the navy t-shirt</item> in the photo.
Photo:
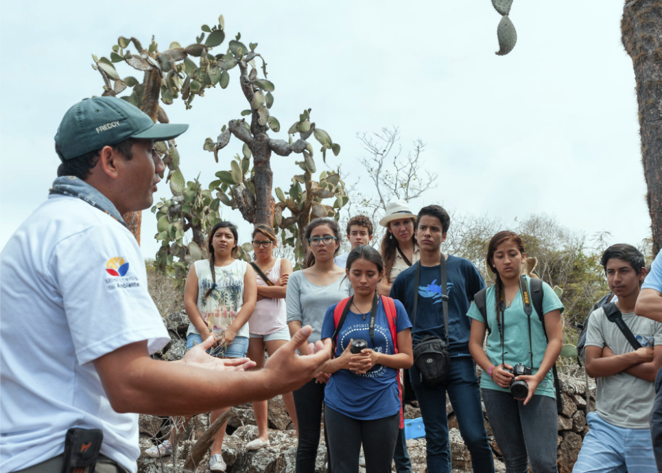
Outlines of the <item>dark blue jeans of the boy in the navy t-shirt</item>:
{"type": "Polygon", "coordinates": [[[451,358],[446,381],[434,387],[421,382],[416,365],[409,370],[425,424],[428,473],[451,472],[446,393],[458,418],[460,435],[471,453],[473,471],[494,473],[494,457],[485,430],[475,366],[469,356],[451,358]]]}

